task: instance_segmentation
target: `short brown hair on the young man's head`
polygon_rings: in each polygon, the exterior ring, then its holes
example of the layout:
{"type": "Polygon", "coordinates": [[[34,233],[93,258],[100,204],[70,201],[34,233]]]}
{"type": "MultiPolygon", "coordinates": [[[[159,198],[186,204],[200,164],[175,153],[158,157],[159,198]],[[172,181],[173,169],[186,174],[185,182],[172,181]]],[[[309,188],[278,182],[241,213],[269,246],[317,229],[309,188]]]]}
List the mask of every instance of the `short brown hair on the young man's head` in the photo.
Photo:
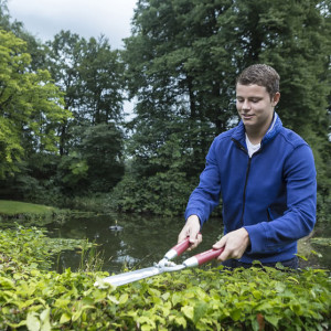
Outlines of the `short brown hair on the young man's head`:
{"type": "Polygon", "coordinates": [[[273,98],[274,95],[279,92],[279,79],[278,73],[271,66],[266,64],[253,64],[242,72],[237,77],[236,84],[265,86],[270,98],[273,98]]]}

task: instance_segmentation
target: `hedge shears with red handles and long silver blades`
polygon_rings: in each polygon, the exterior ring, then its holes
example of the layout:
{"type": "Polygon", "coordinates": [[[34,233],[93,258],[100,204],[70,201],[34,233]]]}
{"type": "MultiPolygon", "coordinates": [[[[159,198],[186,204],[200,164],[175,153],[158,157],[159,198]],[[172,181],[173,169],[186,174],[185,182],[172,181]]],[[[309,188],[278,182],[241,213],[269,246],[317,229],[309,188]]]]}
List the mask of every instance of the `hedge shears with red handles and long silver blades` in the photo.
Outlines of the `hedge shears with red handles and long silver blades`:
{"type": "MultiPolygon", "coordinates": [[[[153,267],[109,276],[104,278],[102,281],[109,282],[113,286],[121,286],[143,278],[157,276],[162,273],[180,271],[185,268],[197,267],[216,258],[224,250],[224,247],[222,247],[221,249],[212,248],[203,253],[196,254],[192,257],[189,257],[180,265],[173,263],[172,259],[177,258],[182,253],[184,253],[190,247],[190,239],[189,237],[186,237],[183,242],[177,244],[170,250],[168,250],[163,258],[158,264],[154,264],[153,267]]],[[[97,281],[95,286],[98,286],[97,281]]]]}

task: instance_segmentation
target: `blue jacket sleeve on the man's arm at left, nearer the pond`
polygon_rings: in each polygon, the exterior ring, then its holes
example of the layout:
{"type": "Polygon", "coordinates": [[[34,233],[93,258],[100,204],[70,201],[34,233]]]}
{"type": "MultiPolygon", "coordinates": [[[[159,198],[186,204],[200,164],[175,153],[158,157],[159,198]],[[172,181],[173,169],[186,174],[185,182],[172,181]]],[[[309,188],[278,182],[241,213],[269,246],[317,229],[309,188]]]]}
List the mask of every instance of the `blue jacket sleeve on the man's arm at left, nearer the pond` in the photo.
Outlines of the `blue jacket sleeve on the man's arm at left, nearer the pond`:
{"type": "Polygon", "coordinates": [[[185,220],[190,215],[197,215],[201,225],[220,203],[221,180],[215,149],[214,140],[206,156],[206,164],[200,175],[199,186],[192,192],[185,210],[185,220]]]}

